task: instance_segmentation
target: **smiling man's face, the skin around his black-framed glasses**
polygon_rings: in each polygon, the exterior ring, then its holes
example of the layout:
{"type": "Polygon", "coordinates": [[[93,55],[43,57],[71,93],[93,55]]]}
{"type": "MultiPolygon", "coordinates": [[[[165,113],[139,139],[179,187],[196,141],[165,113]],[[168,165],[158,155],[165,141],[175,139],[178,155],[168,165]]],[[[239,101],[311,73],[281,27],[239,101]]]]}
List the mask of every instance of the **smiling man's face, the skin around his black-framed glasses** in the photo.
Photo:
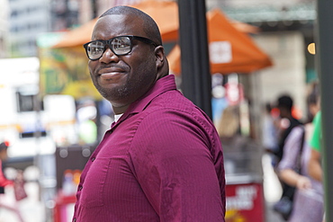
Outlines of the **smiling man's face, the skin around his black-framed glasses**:
{"type": "MultiPolygon", "coordinates": [[[[92,40],[110,40],[121,35],[149,38],[139,18],[112,14],[97,21],[92,40]]],[[[94,86],[113,108],[138,100],[157,79],[154,47],[139,40],[133,40],[130,54],[116,56],[106,49],[102,58],[89,60],[88,67],[94,86]]]]}

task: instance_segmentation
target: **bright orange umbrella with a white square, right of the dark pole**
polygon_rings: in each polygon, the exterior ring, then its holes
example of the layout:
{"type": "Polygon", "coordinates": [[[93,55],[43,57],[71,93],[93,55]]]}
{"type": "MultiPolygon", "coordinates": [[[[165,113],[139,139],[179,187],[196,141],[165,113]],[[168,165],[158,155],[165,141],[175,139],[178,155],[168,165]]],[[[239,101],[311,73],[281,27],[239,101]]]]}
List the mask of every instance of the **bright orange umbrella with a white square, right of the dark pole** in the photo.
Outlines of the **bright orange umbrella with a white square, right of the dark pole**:
{"type": "MultiPolygon", "coordinates": [[[[271,59],[249,36],[215,9],[207,13],[211,74],[251,73],[272,66],[271,59]]],[[[181,73],[179,46],[169,53],[170,69],[181,73]]]]}

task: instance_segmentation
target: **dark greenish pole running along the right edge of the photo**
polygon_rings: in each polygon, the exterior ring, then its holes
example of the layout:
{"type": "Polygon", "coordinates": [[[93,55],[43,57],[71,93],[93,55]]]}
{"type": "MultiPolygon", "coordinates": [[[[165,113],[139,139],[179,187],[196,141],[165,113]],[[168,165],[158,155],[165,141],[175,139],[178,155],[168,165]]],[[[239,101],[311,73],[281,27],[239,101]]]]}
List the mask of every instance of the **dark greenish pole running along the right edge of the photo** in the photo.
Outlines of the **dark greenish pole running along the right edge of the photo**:
{"type": "Polygon", "coordinates": [[[317,1],[316,44],[318,54],[318,73],[320,75],[321,115],[322,115],[322,147],[326,222],[333,221],[333,1],[317,1]]]}

